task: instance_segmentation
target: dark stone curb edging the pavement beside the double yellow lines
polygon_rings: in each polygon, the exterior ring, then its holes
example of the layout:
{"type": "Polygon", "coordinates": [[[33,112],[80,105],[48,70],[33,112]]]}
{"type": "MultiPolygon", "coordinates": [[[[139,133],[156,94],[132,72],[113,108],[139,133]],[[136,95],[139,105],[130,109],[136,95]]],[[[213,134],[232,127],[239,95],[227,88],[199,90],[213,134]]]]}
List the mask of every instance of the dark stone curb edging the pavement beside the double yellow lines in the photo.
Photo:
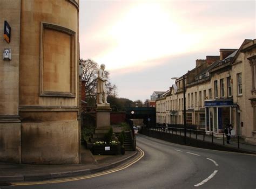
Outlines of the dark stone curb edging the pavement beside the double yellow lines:
{"type": "Polygon", "coordinates": [[[84,169],[84,170],[75,170],[75,171],[68,171],[68,172],[66,171],[66,172],[47,173],[47,174],[23,174],[23,175],[18,174],[15,176],[2,176],[0,177],[0,186],[11,185],[10,182],[17,182],[17,181],[43,181],[43,180],[50,180],[50,179],[57,179],[57,178],[85,176],[86,174],[97,173],[97,172],[111,169],[113,167],[117,167],[118,165],[126,162],[127,160],[133,158],[136,155],[138,155],[137,150],[131,156],[128,156],[124,159],[118,160],[117,162],[110,163],[109,165],[105,165],[95,169],[84,169]]]}

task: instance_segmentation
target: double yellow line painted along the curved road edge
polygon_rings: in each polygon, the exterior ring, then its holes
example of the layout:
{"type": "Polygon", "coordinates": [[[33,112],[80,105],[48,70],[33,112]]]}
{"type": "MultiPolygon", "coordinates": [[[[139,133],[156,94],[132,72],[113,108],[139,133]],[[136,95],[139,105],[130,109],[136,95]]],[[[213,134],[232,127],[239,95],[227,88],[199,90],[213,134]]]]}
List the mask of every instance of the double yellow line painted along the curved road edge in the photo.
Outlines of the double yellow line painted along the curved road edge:
{"type": "Polygon", "coordinates": [[[123,166],[120,166],[116,169],[112,169],[112,170],[109,170],[109,171],[90,174],[89,176],[82,176],[82,177],[66,178],[66,179],[59,179],[59,180],[39,181],[39,182],[11,183],[11,184],[12,184],[12,186],[22,186],[22,185],[40,185],[40,184],[65,183],[65,182],[69,182],[69,181],[83,180],[83,179],[89,179],[89,178],[93,178],[93,177],[103,176],[105,174],[110,174],[110,173],[113,173],[113,172],[121,171],[121,170],[126,169],[127,167],[133,165],[134,163],[138,162],[141,158],[143,158],[145,153],[142,149],[140,149],[138,147],[137,147],[137,150],[139,151],[140,154],[136,159],[134,159],[130,163],[127,163],[123,166]]]}

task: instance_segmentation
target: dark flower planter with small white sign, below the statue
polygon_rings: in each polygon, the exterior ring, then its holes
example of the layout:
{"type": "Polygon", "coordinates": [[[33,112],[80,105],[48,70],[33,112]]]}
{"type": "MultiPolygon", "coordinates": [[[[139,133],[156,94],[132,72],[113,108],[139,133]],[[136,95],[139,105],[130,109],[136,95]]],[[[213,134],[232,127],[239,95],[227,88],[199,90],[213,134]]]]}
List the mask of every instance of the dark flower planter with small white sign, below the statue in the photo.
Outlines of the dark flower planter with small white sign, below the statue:
{"type": "Polygon", "coordinates": [[[120,145],[93,145],[92,153],[93,155],[118,155],[120,153],[120,145]]]}

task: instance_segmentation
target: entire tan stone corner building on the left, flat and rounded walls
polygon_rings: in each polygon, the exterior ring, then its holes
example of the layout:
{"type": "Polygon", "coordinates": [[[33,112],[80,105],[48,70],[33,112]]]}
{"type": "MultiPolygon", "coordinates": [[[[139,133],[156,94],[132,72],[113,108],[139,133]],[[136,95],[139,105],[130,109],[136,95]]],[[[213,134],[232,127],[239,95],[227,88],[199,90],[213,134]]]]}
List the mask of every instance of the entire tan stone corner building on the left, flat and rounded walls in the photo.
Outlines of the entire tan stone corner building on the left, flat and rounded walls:
{"type": "Polygon", "coordinates": [[[0,160],[79,163],[78,12],[78,0],[0,1],[12,52],[0,60],[0,160]]]}

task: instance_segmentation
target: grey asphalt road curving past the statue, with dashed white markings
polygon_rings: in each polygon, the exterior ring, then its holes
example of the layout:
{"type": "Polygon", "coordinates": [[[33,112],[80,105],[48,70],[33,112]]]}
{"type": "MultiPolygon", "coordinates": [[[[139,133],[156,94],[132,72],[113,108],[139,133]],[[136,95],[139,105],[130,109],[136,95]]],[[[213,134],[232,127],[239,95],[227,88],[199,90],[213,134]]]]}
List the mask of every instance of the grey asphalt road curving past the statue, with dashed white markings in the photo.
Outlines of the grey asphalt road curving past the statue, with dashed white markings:
{"type": "Polygon", "coordinates": [[[127,169],[65,183],[2,188],[256,188],[256,156],[192,148],[144,135],[145,152],[127,169]]]}

